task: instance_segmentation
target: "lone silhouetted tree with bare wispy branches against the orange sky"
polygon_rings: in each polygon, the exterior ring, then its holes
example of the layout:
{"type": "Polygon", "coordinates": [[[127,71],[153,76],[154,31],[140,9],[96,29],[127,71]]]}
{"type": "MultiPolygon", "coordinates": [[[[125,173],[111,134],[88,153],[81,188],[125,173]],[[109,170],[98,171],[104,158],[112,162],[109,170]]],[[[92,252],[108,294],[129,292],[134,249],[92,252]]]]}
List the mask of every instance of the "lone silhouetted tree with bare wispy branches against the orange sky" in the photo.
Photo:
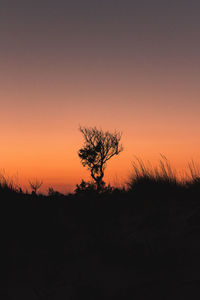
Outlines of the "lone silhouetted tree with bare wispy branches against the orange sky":
{"type": "Polygon", "coordinates": [[[78,151],[78,156],[82,165],[90,170],[99,191],[104,185],[103,176],[107,161],[123,150],[120,144],[122,134],[117,131],[104,132],[96,127],[80,127],[79,130],[84,137],[84,147],[78,151]]]}

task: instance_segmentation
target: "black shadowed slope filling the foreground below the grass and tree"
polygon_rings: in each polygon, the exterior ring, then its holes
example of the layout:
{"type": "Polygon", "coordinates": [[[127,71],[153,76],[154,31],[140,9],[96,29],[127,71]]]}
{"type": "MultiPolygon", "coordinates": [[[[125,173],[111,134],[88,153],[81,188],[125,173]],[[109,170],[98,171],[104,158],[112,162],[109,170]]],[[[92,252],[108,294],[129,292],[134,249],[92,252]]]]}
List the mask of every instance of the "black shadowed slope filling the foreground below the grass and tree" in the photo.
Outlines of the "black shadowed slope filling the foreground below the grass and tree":
{"type": "Polygon", "coordinates": [[[0,299],[199,299],[199,196],[1,193],[0,299]]]}

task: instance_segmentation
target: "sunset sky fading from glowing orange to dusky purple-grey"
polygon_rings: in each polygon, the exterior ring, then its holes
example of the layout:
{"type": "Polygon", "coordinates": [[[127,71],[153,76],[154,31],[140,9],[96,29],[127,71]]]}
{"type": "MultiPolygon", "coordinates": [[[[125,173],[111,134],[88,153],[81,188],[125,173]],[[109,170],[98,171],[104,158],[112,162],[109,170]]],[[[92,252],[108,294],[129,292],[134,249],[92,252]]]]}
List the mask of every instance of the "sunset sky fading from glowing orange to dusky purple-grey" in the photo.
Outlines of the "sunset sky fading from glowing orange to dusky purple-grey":
{"type": "Polygon", "coordinates": [[[0,170],[73,191],[89,172],[78,128],[123,132],[106,182],[134,156],[200,160],[200,2],[1,0],[0,170]]]}

